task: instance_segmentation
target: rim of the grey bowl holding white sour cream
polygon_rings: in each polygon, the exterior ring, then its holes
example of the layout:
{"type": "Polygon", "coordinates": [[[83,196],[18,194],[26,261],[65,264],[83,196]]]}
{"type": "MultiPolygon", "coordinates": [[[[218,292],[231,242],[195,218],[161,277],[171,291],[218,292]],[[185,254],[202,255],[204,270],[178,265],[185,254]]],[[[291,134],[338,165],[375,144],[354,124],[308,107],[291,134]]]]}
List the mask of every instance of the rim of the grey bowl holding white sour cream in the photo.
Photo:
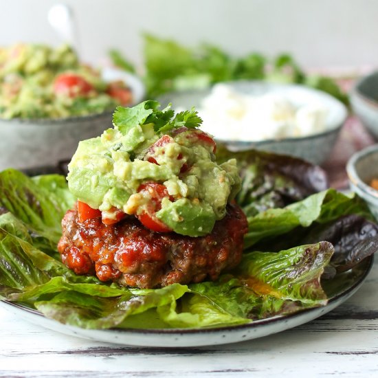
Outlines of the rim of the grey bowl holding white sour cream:
{"type": "MultiPolygon", "coordinates": [[[[320,91],[320,89],[312,88],[307,85],[301,85],[301,84],[296,84],[296,83],[281,83],[281,82],[269,82],[266,80],[248,80],[248,79],[243,79],[243,80],[228,80],[228,81],[223,81],[223,82],[216,82],[209,87],[201,88],[201,89],[186,89],[183,91],[169,91],[166,93],[162,93],[162,95],[157,96],[157,100],[162,102],[162,99],[166,100],[167,98],[173,98],[174,93],[179,93],[179,94],[184,94],[184,93],[198,93],[202,91],[211,91],[212,87],[216,84],[226,84],[226,85],[247,85],[251,84],[252,85],[264,85],[266,87],[272,87],[272,88],[296,88],[300,89],[302,91],[307,91],[308,93],[311,94],[317,94],[319,96],[322,96],[324,98],[329,98],[329,100],[333,101],[334,104],[337,104],[338,107],[340,107],[340,110],[342,111],[342,117],[340,117],[340,122],[335,122],[332,127],[327,129],[326,131],[322,131],[321,133],[314,133],[310,135],[305,135],[303,137],[284,137],[284,138],[274,138],[274,139],[265,139],[265,140],[229,140],[229,139],[222,139],[222,138],[217,138],[215,137],[215,140],[218,140],[219,142],[227,143],[227,144],[239,144],[239,145],[263,145],[263,144],[270,144],[270,143],[276,143],[276,142],[300,142],[304,140],[313,140],[317,139],[318,137],[323,137],[326,135],[331,135],[333,133],[338,133],[342,126],[344,126],[347,118],[348,118],[348,108],[337,98],[331,96],[329,93],[326,93],[324,91],[320,91]]],[[[171,100],[170,102],[173,102],[171,100]]],[[[164,104],[162,104],[164,106],[164,104]]]]}

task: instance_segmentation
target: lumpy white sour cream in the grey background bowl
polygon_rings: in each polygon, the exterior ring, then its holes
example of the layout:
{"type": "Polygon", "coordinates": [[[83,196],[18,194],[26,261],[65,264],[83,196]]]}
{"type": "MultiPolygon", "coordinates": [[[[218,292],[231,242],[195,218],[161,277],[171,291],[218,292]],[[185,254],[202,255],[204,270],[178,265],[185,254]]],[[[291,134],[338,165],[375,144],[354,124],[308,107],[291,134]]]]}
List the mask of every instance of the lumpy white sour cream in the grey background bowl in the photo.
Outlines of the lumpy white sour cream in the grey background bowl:
{"type": "Polygon", "coordinates": [[[260,141],[304,137],[326,131],[320,102],[296,106],[283,93],[252,96],[229,85],[214,85],[199,109],[201,129],[219,140],[260,141]]]}

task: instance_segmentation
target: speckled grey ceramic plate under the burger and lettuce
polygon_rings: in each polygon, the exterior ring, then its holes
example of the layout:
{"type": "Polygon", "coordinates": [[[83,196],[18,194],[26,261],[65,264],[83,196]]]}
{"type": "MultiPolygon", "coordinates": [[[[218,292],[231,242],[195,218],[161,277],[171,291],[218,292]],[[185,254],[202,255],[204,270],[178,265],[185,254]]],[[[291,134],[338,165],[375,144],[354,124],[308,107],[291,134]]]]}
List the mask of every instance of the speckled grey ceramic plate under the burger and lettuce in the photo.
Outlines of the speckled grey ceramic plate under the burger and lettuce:
{"type": "Polygon", "coordinates": [[[20,304],[7,301],[0,301],[0,304],[15,315],[21,316],[34,324],[45,326],[47,329],[67,335],[74,335],[94,341],[148,347],[219,345],[271,335],[272,333],[285,331],[286,329],[291,329],[319,318],[350,298],[362,285],[372,265],[373,257],[370,256],[350,271],[338,274],[332,280],[323,280],[322,287],[330,298],[328,304],[324,307],[306,309],[291,315],[280,315],[274,318],[256,320],[240,326],[211,329],[80,329],[45,318],[38,311],[23,307],[20,304]]]}

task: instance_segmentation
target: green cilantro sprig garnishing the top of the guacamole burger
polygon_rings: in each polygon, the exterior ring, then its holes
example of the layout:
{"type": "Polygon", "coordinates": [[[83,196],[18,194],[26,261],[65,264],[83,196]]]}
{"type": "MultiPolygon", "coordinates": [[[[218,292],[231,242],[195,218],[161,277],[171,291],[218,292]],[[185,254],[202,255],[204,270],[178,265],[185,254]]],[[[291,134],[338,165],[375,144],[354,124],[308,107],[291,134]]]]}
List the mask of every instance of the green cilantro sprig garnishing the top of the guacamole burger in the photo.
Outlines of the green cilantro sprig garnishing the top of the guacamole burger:
{"type": "Polygon", "coordinates": [[[202,123],[194,108],[175,114],[171,104],[163,110],[159,110],[160,106],[158,101],[147,100],[132,108],[117,107],[113,113],[113,125],[126,135],[133,127],[142,124],[153,124],[155,132],[167,133],[183,126],[194,129],[202,123]]]}

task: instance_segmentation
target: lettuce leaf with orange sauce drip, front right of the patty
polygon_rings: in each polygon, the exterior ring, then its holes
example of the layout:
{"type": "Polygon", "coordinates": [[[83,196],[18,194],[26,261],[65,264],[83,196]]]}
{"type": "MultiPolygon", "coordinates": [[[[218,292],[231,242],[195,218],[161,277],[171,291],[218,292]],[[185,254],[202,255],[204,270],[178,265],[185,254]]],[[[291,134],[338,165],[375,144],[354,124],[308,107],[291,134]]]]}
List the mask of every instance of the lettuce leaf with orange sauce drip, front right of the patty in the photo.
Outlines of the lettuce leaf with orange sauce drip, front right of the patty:
{"type": "MultiPolygon", "coordinates": [[[[279,253],[250,252],[232,276],[190,285],[190,290],[207,298],[208,307],[231,315],[235,322],[324,306],[327,297],[320,278],[332,254],[333,246],[327,242],[279,253]]],[[[183,302],[183,309],[192,313],[198,299],[186,296],[183,302]]]]}

